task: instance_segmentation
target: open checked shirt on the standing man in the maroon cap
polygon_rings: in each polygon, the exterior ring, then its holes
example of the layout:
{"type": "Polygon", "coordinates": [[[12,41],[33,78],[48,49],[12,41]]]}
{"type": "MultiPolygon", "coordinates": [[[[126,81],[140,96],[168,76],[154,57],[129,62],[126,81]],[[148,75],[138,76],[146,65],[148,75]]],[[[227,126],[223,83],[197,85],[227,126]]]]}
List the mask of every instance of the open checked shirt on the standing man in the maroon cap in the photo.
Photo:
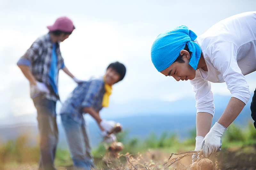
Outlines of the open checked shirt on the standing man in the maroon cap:
{"type": "MultiPolygon", "coordinates": [[[[59,42],[56,42],[56,55],[57,55],[57,70],[59,73],[59,70],[64,67],[64,61],[60,53],[59,42]]],[[[55,94],[49,82],[49,70],[51,66],[51,58],[52,58],[52,41],[51,41],[50,33],[48,33],[42,37],[39,37],[35,42],[33,42],[31,47],[20,58],[17,64],[19,65],[19,63],[22,63],[20,61],[23,61],[24,63],[24,61],[29,60],[30,62],[29,68],[33,76],[36,78],[37,81],[43,82],[51,91],[50,93],[43,93],[43,96],[48,100],[57,101],[60,99],[59,95],[55,94]]],[[[56,78],[57,88],[58,88],[58,73],[56,78]]],[[[31,84],[30,84],[30,97],[34,98],[37,95],[38,95],[38,92],[35,92],[33,88],[31,88],[31,84]]]]}

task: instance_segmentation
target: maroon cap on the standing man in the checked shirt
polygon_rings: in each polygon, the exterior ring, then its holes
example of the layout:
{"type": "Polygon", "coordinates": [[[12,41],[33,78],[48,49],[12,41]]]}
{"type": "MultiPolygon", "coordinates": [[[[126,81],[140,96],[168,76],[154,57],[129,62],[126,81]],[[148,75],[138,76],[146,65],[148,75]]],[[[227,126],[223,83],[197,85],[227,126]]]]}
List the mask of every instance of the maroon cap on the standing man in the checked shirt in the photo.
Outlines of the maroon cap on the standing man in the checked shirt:
{"type": "Polygon", "coordinates": [[[73,22],[68,17],[60,17],[56,19],[55,23],[52,26],[47,26],[50,31],[64,31],[67,33],[72,32],[75,29],[73,22]]]}

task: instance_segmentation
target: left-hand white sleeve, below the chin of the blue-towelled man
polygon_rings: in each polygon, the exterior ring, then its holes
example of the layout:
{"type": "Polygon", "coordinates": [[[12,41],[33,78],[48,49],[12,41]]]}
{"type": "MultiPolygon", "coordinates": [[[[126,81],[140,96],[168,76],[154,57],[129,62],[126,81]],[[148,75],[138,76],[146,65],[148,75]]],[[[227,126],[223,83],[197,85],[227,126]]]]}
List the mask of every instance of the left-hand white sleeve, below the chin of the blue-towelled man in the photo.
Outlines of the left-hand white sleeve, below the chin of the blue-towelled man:
{"type": "Polygon", "coordinates": [[[199,70],[196,70],[196,77],[190,80],[193,85],[193,91],[196,99],[197,112],[206,112],[214,115],[213,93],[211,90],[211,82],[204,80],[199,70]]]}

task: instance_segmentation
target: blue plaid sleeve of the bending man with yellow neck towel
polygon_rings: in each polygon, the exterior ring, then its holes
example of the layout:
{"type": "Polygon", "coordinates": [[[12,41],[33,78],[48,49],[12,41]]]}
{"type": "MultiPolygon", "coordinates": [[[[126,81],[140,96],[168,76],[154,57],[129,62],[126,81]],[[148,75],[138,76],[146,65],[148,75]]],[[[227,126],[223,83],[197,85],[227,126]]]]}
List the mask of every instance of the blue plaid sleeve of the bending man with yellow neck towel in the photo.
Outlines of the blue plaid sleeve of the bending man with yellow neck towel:
{"type": "Polygon", "coordinates": [[[88,87],[88,91],[85,94],[84,100],[82,102],[82,107],[91,107],[94,100],[100,93],[101,84],[100,81],[93,80],[88,87]]]}

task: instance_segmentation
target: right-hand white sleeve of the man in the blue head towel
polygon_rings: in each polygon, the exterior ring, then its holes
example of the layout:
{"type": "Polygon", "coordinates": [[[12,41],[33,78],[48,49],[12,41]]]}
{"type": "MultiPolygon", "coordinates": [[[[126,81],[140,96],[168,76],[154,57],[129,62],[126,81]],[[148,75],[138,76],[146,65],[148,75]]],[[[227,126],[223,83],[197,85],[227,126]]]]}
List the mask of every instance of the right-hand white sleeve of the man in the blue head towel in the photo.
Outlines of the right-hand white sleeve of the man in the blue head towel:
{"type": "Polygon", "coordinates": [[[232,96],[245,104],[250,99],[249,85],[236,61],[237,47],[230,42],[219,42],[211,46],[210,60],[220,71],[232,96]]]}

